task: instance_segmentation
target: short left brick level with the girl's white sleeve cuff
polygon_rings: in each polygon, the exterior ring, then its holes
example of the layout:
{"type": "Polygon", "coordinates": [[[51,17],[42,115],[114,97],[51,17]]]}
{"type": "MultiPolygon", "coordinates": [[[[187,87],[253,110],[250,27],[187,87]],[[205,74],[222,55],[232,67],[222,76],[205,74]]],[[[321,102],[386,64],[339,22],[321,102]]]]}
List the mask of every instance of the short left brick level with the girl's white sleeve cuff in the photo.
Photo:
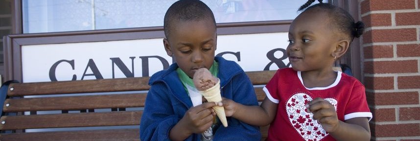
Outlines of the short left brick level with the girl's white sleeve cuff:
{"type": "Polygon", "coordinates": [[[373,114],[372,120],[375,122],[395,121],[395,108],[390,109],[371,109],[373,114]]]}

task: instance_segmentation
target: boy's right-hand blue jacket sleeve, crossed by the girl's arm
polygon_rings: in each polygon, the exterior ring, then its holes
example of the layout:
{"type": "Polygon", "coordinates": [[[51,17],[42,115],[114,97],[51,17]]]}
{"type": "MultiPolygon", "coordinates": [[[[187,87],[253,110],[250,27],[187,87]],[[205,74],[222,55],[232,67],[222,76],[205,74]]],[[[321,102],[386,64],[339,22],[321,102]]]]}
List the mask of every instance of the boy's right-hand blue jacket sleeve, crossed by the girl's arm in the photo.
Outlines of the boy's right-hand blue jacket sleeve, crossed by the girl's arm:
{"type": "MultiPolygon", "coordinates": [[[[254,86],[245,72],[234,76],[228,85],[232,85],[232,93],[224,94],[243,105],[258,105],[254,86]]],[[[228,127],[221,125],[215,133],[214,141],[260,141],[261,133],[258,126],[246,124],[236,118],[228,117],[228,127]]]]}

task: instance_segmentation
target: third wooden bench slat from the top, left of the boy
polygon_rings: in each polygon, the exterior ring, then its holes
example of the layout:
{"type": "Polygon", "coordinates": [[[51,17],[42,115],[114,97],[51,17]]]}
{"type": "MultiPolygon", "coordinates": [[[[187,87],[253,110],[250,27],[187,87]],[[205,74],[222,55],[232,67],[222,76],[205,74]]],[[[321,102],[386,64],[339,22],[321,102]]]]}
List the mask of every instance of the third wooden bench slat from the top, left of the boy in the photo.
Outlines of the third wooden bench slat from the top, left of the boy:
{"type": "Polygon", "coordinates": [[[142,111],[2,116],[0,130],[139,125],[142,111]]]}

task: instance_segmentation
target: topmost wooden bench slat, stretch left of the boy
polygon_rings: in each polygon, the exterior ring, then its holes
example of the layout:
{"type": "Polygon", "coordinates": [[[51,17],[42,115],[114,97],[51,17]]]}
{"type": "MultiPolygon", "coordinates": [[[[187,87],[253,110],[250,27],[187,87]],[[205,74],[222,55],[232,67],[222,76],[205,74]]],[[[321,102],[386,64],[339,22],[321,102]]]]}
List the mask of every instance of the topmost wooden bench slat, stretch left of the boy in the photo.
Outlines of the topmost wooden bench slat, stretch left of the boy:
{"type": "Polygon", "coordinates": [[[149,90],[149,77],[95,79],[38,83],[13,83],[7,95],[78,94],[149,90]],[[13,88],[13,89],[11,89],[13,88]]]}

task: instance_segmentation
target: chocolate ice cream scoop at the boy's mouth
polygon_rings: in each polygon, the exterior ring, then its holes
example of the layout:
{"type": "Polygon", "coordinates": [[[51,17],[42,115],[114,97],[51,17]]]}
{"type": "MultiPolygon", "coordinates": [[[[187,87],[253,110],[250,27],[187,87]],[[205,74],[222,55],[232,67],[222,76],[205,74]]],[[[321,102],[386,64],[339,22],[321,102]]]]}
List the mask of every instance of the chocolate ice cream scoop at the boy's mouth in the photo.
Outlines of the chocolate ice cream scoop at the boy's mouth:
{"type": "Polygon", "coordinates": [[[219,79],[211,75],[210,71],[206,68],[200,68],[195,71],[192,81],[198,91],[205,91],[216,85],[219,79]]]}

